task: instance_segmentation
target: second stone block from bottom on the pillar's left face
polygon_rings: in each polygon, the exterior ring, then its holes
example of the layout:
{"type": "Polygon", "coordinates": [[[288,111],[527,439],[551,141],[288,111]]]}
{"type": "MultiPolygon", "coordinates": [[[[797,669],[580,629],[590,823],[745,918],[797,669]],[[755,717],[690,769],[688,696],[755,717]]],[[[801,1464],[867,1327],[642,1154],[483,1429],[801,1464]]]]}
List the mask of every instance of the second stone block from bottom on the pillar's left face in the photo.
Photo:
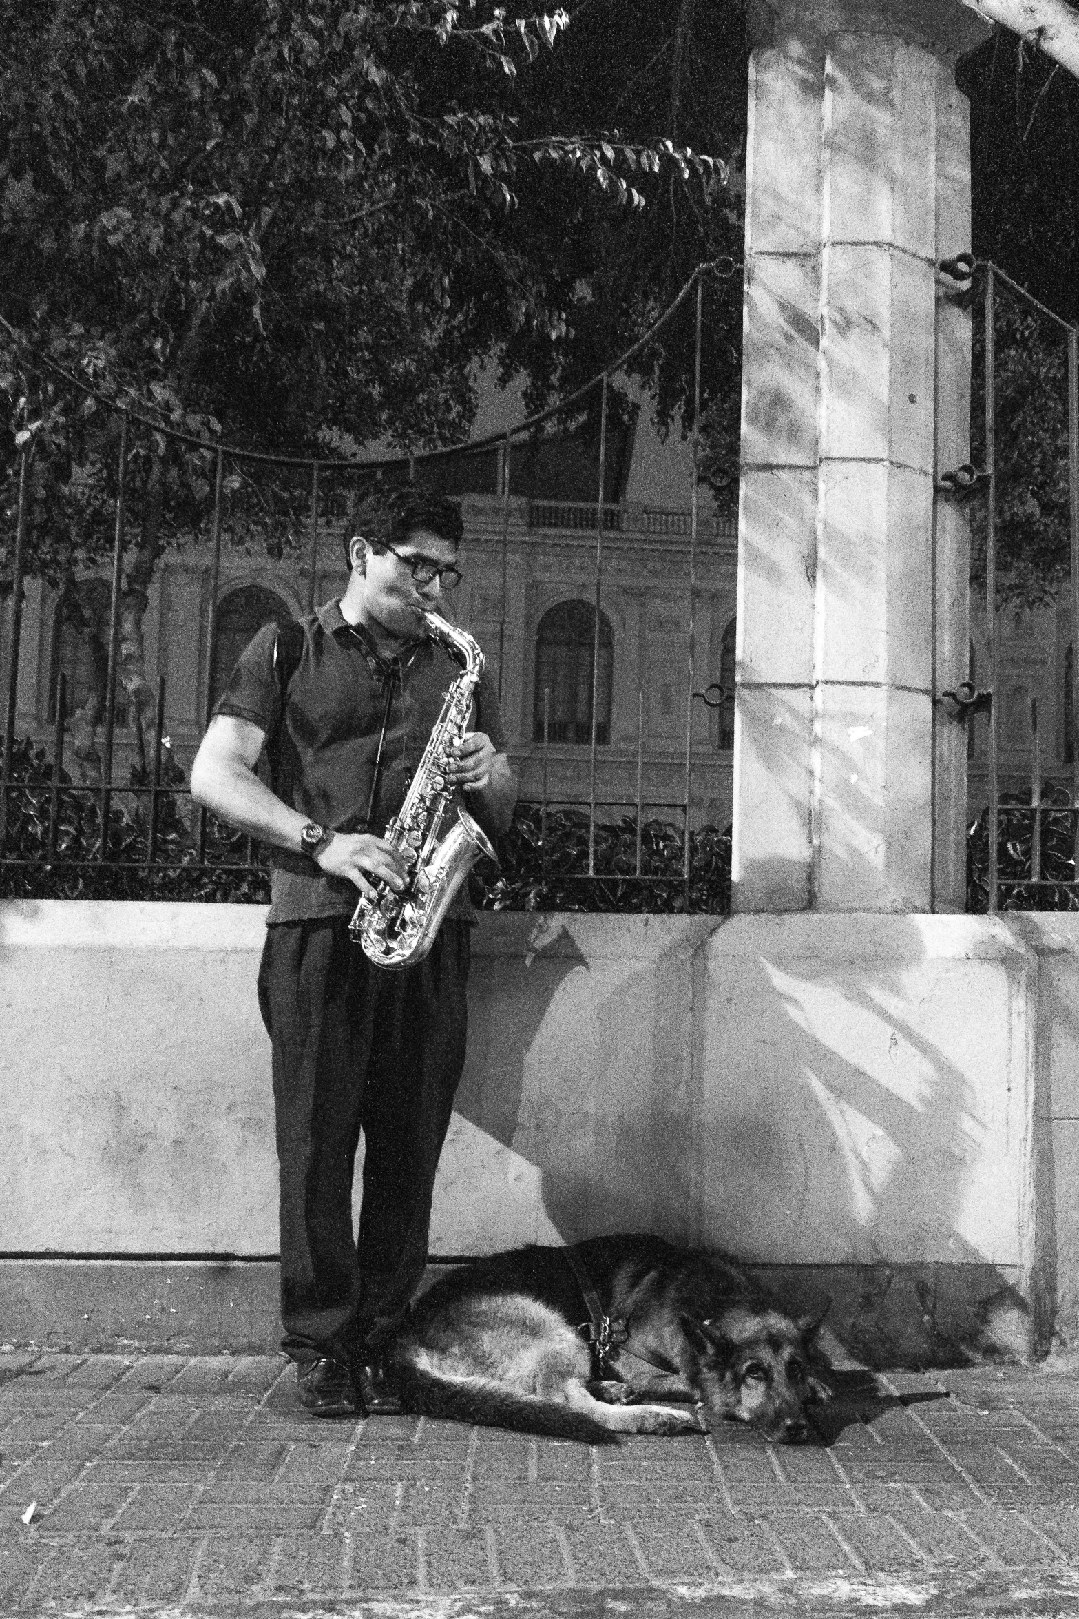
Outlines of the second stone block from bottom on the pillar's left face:
{"type": "Polygon", "coordinates": [[[738,523],[738,680],[812,685],[817,471],[746,468],[738,523]]]}

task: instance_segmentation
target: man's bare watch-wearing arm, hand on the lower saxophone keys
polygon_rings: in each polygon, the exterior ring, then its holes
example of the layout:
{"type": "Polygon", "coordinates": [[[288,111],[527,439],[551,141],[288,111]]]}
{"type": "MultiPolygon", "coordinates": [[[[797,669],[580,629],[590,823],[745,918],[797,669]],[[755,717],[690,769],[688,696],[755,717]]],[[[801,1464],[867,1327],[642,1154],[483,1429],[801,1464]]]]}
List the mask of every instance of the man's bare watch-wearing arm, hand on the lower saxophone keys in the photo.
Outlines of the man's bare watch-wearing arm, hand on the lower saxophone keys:
{"type": "MultiPolygon", "coordinates": [[[[309,816],[290,810],[256,776],[264,742],[265,732],[252,720],[215,714],[191,766],[191,797],[241,832],[298,855],[309,816]]],[[[314,861],[327,876],[346,877],[369,897],[374,895],[369,877],[393,889],[404,886],[398,852],[383,837],[366,832],[333,832],[314,861]]]]}

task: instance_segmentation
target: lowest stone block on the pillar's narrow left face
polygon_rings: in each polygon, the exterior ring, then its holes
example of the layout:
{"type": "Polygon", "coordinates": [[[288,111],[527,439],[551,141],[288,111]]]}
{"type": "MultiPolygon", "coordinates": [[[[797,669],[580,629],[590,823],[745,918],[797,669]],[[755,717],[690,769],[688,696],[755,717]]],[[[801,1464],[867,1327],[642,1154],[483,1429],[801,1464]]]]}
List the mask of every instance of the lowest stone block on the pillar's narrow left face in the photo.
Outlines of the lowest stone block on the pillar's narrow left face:
{"type": "Polygon", "coordinates": [[[809,908],[812,695],[746,685],[734,709],[731,907],[809,908]]]}

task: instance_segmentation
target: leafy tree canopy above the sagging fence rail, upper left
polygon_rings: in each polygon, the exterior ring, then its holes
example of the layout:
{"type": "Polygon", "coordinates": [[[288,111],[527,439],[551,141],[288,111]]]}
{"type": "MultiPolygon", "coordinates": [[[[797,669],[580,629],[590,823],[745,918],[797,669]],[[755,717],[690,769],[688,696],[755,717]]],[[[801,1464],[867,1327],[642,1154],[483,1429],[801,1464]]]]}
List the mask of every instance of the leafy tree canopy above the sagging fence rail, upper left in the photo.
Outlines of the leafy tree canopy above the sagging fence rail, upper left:
{"type": "MultiPolygon", "coordinates": [[[[668,178],[704,199],[725,176],[666,138],[590,136],[594,105],[552,125],[550,74],[531,104],[518,92],[561,8],[47,11],[42,26],[0,0],[5,314],[107,397],[196,436],[291,453],[340,434],[461,437],[476,355],[539,366],[535,343],[552,380],[607,199],[634,212],[668,178]]],[[[13,345],[0,359],[40,445],[34,560],[60,578],[73,547],[76,565],[107,550],[118,426],[13,345]]],[[[138,458],[136,486],[157,468],[189,533],[212,463],[160,439],[138,458]]],[[[133,520],[154,526],[152,502],[133,520]]]]}

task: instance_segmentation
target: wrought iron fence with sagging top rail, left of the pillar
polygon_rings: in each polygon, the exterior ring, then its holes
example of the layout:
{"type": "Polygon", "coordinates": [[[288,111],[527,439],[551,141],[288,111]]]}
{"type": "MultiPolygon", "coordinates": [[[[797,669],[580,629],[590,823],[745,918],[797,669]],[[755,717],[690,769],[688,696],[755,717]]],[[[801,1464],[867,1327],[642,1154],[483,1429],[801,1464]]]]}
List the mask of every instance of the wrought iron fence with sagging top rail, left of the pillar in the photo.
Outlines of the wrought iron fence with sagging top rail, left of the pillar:
{"type": "MultiPolygon", "coordinates": [[[[730,835],[715,826],[694,829],[694,704],[715,708],[720,701],[713,685],[697,690],[696,657],[696,589],[697,546],[702,531],[715,538],[718,529],[709,515],[699,513],[700,460],[700,353],[702,306],[709,280],[730,269],[700,266],[678,298],[654,322],[645,337],[626,355],[620,355],[594,382],[560,400],[550,410],[531,418],[506,434],[468,445],[424,452],[398,460],[354,461],[275,457],[239,447],[207,442],[183,427],[155,419],[142,408],[125,408],[102,398],[86,380],[60,371],[32,353],[28,366],[40,364],[57,379],[57,385],[92,400],[94,408],[108,413],[116,424],[113,436],[112,482],[112,573],[107,628],[107,672],[104,686],[102,756],[97,780],[76,780],[66,758],[66,720],[70,693],[60,674],[53,698],[52,745],[39,738],[16,737],[16,703],[19,683],[19,643],[23,625],[24,576],[31,539],[31,471],[37,445],[24,436],[18,455],[18,504],[13,547],[13,580],[8,622],[6,703],[3,756],[0,761],[0,892],[61,894],[86,897],[176,897],[176,899],[265,899],[265,855],[251,839],[222,826],[205,808],[191,801],[183,772],[176,769],[165,735],[165,677],[157,678],[154,719],[126,780],[116,769],[116,716],[120,686],[120,618],[125,554],[131,525],[147,500],[146,479],[139,486],[133,468],[146,460],[152,445],[165,444],[175,453],[201,468],[209,508],[209,623],[207,657],[199,693],[201,719],[205,725],[214,699],[214,667],[218,644],[218,606],[222,589],[222,546],[226,521],[238,508],[256,513],[270,554],[273,546],[288,544],[303,554],[306,609],[315,607],[320,550],[327,525],[340,516],[349,502],[377,482],[401,482],[422,476],[438,484],[453,484],[461,476],[463,460],[487,458],[497,466],[501,497],[500,625],[498,625],[498,691],[503,688],[506,659],[506,593],[510,554],[510,512],[514,489],[514,447],[529,442],[547,423],[581,411],[592,393],[599,395],[599,476],[597,499],[587,502],[534,502],[537,526],[560,526],[581,534],[594,534],[594,644],[590,735],[584,780],[587,790],[569,798],[548,795],[548,759],[552,738],[547,716],[542,735],[542,788],[537,801],[519,806],[514,827],[506,839],[500,876],[480,876],[477,899],[493,908],[633,908],[633,910],[723,910],[730,895],[730,835]],[[600,784],[599,680],[600,623],[605,584],[605,546],[611,533],[623,533],[626,513],[608,500],[607,436],[611,379],[649,343],[683,306],[694,309],[694,389],[692,389],[692,478],[686,512],[645,510],[633,520],[633,533],[678,536],[688,549],[684,596],[688,661],[684,669],[684,758],[681,793],[657,797],[645,784],[644,693],[637,690],[636,793],[616,798],[600,784]],[[493,457],[493,460],[492,460],[493,457]],[[134,510],[134,508],[139,510],[134,510]],[[663,819],[663,816],[673,816],[663,819]],[[611,819],[613,818],[613,819],[611,819]]],[[[15,334],[18,337],[18,334],[15,334]]],[[[183,513],[178,516],[183,525],[183,513]]]]}

